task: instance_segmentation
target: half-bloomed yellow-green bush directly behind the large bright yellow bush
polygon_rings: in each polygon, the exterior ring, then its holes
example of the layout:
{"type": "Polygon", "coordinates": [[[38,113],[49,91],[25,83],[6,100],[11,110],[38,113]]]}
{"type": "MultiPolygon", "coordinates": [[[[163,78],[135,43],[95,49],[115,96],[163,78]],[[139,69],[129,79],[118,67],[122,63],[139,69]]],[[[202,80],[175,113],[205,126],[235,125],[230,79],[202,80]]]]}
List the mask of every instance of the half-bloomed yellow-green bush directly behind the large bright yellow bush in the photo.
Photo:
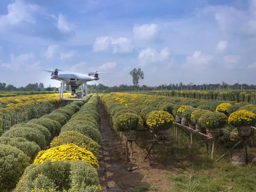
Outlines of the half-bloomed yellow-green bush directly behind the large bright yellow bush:
{"type": "Polygon", "coordinates": [[[99,155],[98,150],[100,145],[90,137],[75,131],[63,132],[58,137],[55,137],[52,140],[51,148],[71,143],[78,147],[85,148],[87,151],[91,151],[95,156],[99,155]]]}

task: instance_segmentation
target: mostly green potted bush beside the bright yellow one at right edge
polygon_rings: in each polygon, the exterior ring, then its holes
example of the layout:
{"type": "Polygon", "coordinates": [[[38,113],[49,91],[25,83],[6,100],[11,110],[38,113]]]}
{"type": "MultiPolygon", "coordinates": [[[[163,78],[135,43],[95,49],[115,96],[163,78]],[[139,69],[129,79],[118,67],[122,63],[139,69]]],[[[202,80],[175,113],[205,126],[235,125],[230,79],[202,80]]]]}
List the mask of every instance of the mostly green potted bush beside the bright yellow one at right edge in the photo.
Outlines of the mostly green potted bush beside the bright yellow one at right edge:
{"type": "Polygon", "coordinates": [[[206,129],[206,133],[210,137],[219,137],[220,129],[223,128],[227,122],[228,117],[220,112],[205,113],[198,120],[198,124],[206,129]]]}

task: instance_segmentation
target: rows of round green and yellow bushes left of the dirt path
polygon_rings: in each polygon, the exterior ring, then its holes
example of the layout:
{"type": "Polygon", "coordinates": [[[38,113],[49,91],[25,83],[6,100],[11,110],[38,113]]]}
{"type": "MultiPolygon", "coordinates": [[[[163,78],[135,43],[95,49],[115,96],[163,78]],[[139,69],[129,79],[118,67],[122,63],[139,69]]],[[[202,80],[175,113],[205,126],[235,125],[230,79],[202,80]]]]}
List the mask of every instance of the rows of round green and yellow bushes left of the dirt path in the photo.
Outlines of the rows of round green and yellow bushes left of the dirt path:
{"type": "Polygon", "coordinates": [[[14,125],[0,137],[0,191],[101,190],[99,97],[87,98],[14,125]]]}

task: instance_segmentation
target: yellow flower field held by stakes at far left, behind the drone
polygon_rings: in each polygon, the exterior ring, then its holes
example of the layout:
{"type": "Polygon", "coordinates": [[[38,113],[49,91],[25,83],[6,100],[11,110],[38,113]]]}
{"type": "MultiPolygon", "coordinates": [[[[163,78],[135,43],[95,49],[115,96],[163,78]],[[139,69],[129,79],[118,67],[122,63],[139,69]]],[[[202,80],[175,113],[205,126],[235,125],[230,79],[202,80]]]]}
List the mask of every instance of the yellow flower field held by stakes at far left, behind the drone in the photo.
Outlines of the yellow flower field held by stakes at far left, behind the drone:
{"type": "MultiPolygon", "coordinates": [[[[76,97],[69,93],[63,95],[68,98],[76,97]]],[[[57,93],[0,97],[0,130],[4,132],[14,124],[39,118],[67,103],[70,103],[70,101],[61,101],[57,93]]]]}

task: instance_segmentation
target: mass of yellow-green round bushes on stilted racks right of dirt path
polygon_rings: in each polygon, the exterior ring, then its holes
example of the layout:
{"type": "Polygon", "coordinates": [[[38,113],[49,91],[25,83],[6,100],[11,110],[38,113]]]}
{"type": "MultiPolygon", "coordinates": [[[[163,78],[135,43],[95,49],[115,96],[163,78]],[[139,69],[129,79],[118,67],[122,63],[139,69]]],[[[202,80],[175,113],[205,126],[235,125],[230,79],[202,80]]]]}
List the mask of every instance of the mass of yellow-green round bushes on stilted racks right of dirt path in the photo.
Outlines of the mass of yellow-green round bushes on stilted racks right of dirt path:
{"type": "Polygon", "coordinates": [[[184,125],[191,126],[198,131],[207,130],[210,136],[212,136],[212,129],[218,130],[228,123],[234,129],[241,126],[253,126],[256,122],[255,106],[246,102],[227,103],[216,100],[193,100],[128,93],[110,93],[100,95],[100,97],[113,116],[114,128],[118,131],[140,128],[140,124],[131,125],[130,123],[138,119],[138,116],[152,130],[166,130],[175,121],[182,123],[181,120],[183,120],[184,125]]]}

